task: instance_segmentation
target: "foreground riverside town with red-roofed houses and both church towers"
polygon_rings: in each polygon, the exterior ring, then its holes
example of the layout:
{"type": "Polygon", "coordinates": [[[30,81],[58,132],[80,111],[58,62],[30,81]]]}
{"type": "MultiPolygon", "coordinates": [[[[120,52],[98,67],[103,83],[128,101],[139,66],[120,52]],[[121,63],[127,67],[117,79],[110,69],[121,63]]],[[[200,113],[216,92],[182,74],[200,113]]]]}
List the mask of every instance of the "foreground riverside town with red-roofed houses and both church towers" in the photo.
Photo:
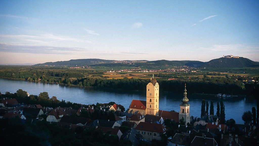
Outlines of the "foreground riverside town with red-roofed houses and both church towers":
{"type": "MultiPolygon", "coordinates": [[[[95,128],[103,133],[117,136],[138,146],[141,141],[151,142],[161,140],[166,135],[168,146],[233,146],[258,144],[259,130],[257,125],[250,123],[236,124],[228,127],[219,123],[216,115],[193,117],[190,115],[191,105],[188,103],[187,90],[183,91],[183,99],[179,102],[179,111],[159,110],[159,84],[154,76],[147,84],[146,101],[133,99],[124,112],[120,104],[93,107],[80,104],[78,110],[71,107],[42,107],[41,105],[26,105],[18,103],[15,98],[2,98],[0,101],[0,120],[4,118],[19,117],[22,122],[35,124],[46,120],[49,123],[58,123],[61,128],[75,130],[95,128]],[[83,114],[94,114],[96,111],[101,116],[112,115],[112,118],[99,117],[99,119],[85,118],[83,114]],[[45,115],[46,118],[43,118],[45,115]],[[74,116],[72,116],[74,115],[74,116]],[[170,134],[172,123],[179,123],[174,135],[170,134]],[[129,130],[122,132],[121,126],[129,130]],[[231,131],[231,132],[230,132],[231,131]],[[240,131],[240,132],[233,132],[240,131]]],[[[191,100],[191,99],[190,99],[191,100]]],[[[100,115],[99,115],[100,116],[100,115]]]]}

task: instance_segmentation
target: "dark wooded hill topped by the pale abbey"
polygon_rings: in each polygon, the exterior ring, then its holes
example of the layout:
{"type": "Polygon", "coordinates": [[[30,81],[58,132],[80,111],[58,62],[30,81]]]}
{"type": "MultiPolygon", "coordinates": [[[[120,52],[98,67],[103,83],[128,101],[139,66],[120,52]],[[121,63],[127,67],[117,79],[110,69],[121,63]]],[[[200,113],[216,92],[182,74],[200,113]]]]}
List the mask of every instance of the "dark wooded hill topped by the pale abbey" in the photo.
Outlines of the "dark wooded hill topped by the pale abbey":
{"type": "Polygon", "coordinates": [[[259,63],[248,58],[218,58],[200,66],[201,68],[259,67],[259,63]]]}

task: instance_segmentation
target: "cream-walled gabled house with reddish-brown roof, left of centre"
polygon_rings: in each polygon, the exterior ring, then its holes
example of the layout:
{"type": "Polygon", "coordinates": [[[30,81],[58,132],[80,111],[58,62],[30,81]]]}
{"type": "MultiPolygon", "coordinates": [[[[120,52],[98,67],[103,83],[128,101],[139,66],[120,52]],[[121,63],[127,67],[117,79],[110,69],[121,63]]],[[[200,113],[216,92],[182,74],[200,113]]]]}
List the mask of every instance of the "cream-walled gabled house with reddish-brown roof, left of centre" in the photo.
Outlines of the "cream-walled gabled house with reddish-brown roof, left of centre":
{"type": "Polygon", "coordinates": [[[65,109],[56,108],[49,112],[46,120],[48,122],[60,122],[63,115],[66,115],[65,109]]]}

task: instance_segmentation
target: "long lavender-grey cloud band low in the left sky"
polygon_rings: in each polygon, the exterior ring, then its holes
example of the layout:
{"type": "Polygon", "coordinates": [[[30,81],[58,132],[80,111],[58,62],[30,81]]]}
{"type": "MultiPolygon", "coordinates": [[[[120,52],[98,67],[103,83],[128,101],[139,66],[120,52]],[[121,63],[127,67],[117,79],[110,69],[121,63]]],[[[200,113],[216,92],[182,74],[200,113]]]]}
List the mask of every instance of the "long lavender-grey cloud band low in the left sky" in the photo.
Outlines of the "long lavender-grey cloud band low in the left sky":
{"type": "Polygon", "coordinates": [[[32,45],[10,45],[0,43],[0,52],[11,53],[33,53],[33,54],[72,54],[88,51],[78,47],[55,47],[55,46],[32,46],[32,45]]]}

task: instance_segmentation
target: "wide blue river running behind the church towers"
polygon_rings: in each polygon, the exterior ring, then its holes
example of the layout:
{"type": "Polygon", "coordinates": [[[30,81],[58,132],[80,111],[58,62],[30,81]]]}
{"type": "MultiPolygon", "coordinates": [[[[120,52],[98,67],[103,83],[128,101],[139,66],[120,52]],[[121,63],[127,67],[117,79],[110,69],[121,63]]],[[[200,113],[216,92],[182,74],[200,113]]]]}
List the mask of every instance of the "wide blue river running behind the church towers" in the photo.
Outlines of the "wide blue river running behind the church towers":
{"type": "MultiPolygon", "coordinates": [[[[100,89],[93,87],[76,87],[61,84],[28,82],[15,79],[0,78],[0,92],[5,94],[6,91],[15,93],[18,89],[22,89],[29,94],[39,95],[40,92],[48,92],[49,97],[56,96],[57,99],[70,101],[81,104],[109,103],[110,101],[121,104],[127,109],[132,99],[146,100],[145,91],[125,91],[116,89],[100,89]]],[[[172,89],[173,90],[173,89],[172,89]]],[[[225,105],[226,120],[233,118],[237,124],[243,124],[242,114],[244,111],[256,108],[255,97],[233,97],[219,98],[212,95],[188,94],[188,85],[186,87],[187,98],[190,104],[190,114],[194,117],[200,116],[202,99],[210,104],[214,102],[214,114],[217,112],[217,101],[223,100],[225,105]]],[[[183,86],[184,92],[184,86],[183,86]]],[[[159,109],[179,111],[179,105],[182,103],[183,94],[175,94],[171,92],[159,93],[159,109]]]]}

